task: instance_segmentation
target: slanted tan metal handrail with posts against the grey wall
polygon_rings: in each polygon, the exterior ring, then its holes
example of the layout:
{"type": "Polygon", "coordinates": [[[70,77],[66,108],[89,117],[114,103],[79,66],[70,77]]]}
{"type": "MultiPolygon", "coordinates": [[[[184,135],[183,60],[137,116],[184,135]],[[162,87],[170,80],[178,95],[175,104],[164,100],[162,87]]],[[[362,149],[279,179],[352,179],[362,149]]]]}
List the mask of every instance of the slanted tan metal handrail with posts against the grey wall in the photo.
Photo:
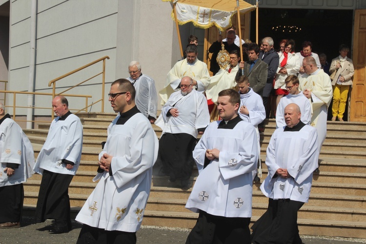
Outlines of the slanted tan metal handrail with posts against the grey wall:
{"type": "MultiPolygon", "coordinates": [[[[70,71],[69,73],[66,73],[66,74],[64,74],[64,75],[62,75],[62,76],[60,76],[60,77],[58,77],[56,79],[53,79],[52,81],[48,82],[48,86],[51,86],[52,85],[52,99],[54,99],[58,95],[63,94],[64,92],[69,91],[70,89],[72,89],[72,88],[74,88],[76,86],[79,86],[80,84],[82,84],[82,83],[84,83],[86,81],[89,81],[89,80],[93,79],[94,77],[97,77],[97,76],[99,76],[99,75],[102,74],[102,99],[99,100],[99,101],[102,101],[102,112],[104,112],[104,82],[105,82],[105,60],[106,59],[109,60],[109,57],[108,56],[104,56],[104,57],[102,57],[100,59],[97,59],[96,61],[92,61],[92,62],[90,62],[88,64],[85,64],[84,66],[81,66],[80,68],[77,68],[77,69],[75,69],[73,71],[70,71]],[[68,89],[66,89],[66,90],[64,90],[64,91],[56,94],[56,81],[60,81],[61,79],[65,78],[65,77],[68,77],[69,75],[72,75],[72,74],[74,74],[74,73],[76,73],[78,71],[81,71],[82,69],[85,69],[85,68],[87,68],[87,67],[89,67],[89,66],[91,66],[91,65],[93,65],[93,64],[95,64],[97,62],[100,62],[100,61],[103,61],[103,71],[102,72],[98,73],[97,75],[95,75],[95,76],[93,76],[93,77],[91,77],[91,78],[89,78],[89,79],[87,79],[85,81],[80,82],[79,84],[76,84],[76,85],[74,85],[74,86],[72,86],[72,87],[70,87],[70,88],[68,88],[68,89]]],[[[88,107],[88,104],[86,104],[86,107],[88,107]]],[[[54,119],[54,113],[52,113],[52,116],[51,117],[52,117],[52,120],[53,120],[54,119]]]]}

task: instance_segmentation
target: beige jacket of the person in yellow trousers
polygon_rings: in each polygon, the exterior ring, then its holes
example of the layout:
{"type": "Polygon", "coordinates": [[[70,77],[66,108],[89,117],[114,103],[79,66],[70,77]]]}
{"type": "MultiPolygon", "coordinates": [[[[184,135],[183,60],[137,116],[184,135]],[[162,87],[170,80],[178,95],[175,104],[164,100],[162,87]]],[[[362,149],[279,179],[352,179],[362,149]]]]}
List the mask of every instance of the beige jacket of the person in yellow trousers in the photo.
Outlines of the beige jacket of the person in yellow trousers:
{"type": "Polygon", "coordinates": [[[332,85],[335,85],[338,77],[343,76],[345,78],[345,81],[342,82],[342,85],[352,85],[352,76],[355,73],[353,62],[351,59],[346,57],[346,61],[340,62],[339,56],[332,60],[332,63],[330,64],[329,68],[329,74],[332,74],[335,70],[337,70],[336,76],[332,81],[332,85]],[[337,62],[341,63],[341,67],[337,70],[337,62]]]}

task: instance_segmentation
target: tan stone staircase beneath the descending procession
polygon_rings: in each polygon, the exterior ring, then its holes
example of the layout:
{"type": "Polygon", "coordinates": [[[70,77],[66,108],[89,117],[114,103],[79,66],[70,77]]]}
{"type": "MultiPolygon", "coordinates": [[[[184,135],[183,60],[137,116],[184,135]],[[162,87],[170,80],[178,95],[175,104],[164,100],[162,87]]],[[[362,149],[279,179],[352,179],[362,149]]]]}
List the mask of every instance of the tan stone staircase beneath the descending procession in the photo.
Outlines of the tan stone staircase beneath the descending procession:
{"type": "MultiPolygon", "coordinates": [[[[98,168],[101,142],[106,140],[108,124],[114,113],[85,113],[79,115],[84,128],[81,165],[69,187],[72,209],[81,208],[94,189],[92,182],[98,168]]],[[[267,175],[265,150],[275,130],[275,120],[266,120],[261,133],[263,176],[267,175]]],[[[34,145],[36,156],[48,133],[49,124],[38,129],[24,130],[34,145]]],[[[153,125],[158,137],[161,129],[153,125]]],[[[328,122],[327,137],[320,154],[320,174],[314,175],[308,203],[300,209],[300,234],[366,238],[366,123],[328,122]]],[[[198,176],[195,169],[191,184],[198,176]]],[[[40,175],[24,184],[24,205],[34,209],[37,203],[40,175]]],[[[252,223],[266,210],[268,199],[253,184],[252,223]]],[[[192,188],[191,188],[192,189],[192,188]]],[[[182,190],[164,176],[154,176],[150,197],[144,212],[144,225],[192,228],[198,214],[184,208],[191,189],[182,190]]]]}

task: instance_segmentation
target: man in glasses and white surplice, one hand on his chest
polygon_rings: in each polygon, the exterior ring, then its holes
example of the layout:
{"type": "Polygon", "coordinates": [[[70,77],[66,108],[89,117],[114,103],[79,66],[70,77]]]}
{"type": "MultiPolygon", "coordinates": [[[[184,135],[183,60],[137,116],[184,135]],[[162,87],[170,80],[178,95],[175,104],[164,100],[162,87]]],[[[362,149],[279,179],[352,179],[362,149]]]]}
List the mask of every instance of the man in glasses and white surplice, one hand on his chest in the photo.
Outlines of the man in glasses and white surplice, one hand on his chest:
{"type": "Polygon", "coordinates": [[[163,174],[170,177],[170,182],[180,180],[178,186],[188,189],[194,164],[192,150],[210,116],[206,98],[193,89],[192,78],[183,77],[179,86],[181,90],[170,96],[155,123],[163,129],[158,162],[162,163],[163,174]]]}

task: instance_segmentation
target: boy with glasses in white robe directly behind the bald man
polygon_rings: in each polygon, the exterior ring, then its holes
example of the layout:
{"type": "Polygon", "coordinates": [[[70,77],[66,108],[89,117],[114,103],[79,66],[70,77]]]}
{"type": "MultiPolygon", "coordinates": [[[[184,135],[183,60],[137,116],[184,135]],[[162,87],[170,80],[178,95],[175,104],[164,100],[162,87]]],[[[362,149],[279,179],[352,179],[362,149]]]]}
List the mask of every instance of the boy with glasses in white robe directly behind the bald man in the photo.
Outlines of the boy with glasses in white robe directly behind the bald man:
{"type": "Polygon", "coordinates": [[[301,122],[310,124],[311,121],[311,104],[310,101],[299,91],[299,79],[295,75],[287,76],[285,79],[285,88],[288,95],[283,97],[277,106],[276,128],[286,126],[284,112],[285,107],[290,103],[295,103],[300,107],[301,122]]]}

